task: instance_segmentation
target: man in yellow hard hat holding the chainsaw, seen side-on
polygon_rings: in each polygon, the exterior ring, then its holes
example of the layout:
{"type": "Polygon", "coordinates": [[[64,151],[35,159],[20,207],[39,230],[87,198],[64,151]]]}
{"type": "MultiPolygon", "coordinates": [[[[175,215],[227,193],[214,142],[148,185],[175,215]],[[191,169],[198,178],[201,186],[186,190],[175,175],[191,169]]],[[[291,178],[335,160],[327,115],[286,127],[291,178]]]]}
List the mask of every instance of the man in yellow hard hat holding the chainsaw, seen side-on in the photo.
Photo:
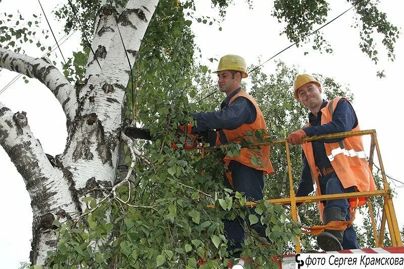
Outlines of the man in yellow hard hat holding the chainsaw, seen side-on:
{"type": "MultiPolygon", "coordinates": [[[[194,131],[209,132],[211,145],[239,142],[242,138],[249,140],[247,131],[267,133],[264,116],[257,102],[241,89],[241,79],[248,77],[244,59],[237,55],[223,56],[214,73],[218,76],[219,89],[226,94],[226,98],[221,103],[220,111],[191,114],[196,120],[194,131]]],[[[241,148],[238,156],[226,154],[223,158],[225,188],[243,192],[250,200],[263,199],[264,175],[274,172],[269,151],[269,146],[262,146],[256,151],[245,147],[241,148]],[[259,159],[258,164],[251,163],[252,156],[259,159]]],[[[255,214],[255,209],[252,208],[251,212],[255,214]]],[[[223,222],[229,240],[228,250],[234,257],[239,257],[241,243],[245,239],[244,221],[236,219],[223,222]]],[[[251,225],[251,228],[261,237],[266,237],[265,227],[260,222],[251,225]]]]}

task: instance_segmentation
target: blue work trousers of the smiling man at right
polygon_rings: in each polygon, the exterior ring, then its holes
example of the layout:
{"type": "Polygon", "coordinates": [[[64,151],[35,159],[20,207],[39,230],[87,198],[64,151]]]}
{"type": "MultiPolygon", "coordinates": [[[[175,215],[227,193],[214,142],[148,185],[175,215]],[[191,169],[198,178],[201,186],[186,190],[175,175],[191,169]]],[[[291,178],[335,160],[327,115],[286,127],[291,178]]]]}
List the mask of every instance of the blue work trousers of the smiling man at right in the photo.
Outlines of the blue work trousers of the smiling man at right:
{"type": "MultiPolygon", "coordinates": [[[[320,190],[321,194],[339,194],[339,193],[348,193],[355,192],[355,187],[349,187],[344,189],[339,180],[337,174],[335,172],[325,175],[324,177],[319,177],[320,182],[320,190]]],[[[328,200],[323,201],[324,203],[324,211],[327,208],[338,207],[341,209],[341,212],[345,214],[346,221],[350,219],[350,210],[349,210],[349,202],[348,199],[338,199],[338,200],[328,200]]],[[[354,226],[350,226],[346,228],[344,231],[343,239],[342,239],[342,247],[343,249],[357,249],[360,248],[357,241],[357,233],[354,230],[354,226]]]]}

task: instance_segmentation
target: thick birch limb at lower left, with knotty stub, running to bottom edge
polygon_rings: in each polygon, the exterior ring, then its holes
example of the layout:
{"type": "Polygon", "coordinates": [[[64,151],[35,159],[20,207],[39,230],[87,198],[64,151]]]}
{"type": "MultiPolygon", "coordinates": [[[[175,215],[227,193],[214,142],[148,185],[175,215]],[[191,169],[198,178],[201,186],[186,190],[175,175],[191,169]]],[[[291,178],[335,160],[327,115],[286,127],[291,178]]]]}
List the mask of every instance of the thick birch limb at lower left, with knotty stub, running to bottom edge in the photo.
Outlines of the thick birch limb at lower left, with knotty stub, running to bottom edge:
{"type": "MultiPolygon", "coordinates": [[[[56,238],[52,227],[59,212],[81,211],[71,173],[49,162],[41,144],[32,134],[26,113],[12,113],[0,102],[0,145],[24,179],[33,212],[31,261],[43,264],[56,238]],[[56,216],[56,217],[55,217],[56,216]]],[[[64,215],[61,218],[65,218],[64,215]]]]}

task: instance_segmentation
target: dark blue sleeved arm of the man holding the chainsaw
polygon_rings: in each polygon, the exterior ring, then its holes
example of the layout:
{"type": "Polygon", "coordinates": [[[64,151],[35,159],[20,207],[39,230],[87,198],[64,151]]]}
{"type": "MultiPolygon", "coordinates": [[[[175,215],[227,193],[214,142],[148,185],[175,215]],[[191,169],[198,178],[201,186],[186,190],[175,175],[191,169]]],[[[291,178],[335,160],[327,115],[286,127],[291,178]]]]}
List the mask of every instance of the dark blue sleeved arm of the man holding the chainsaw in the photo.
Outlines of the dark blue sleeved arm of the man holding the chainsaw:
{"type": "Polygon", "coordinates": [[[192,113],[191,116],[196,120],[195,132],[206,132],[209,129],[233,130],[254,118],[252,123],[257,112],[254,104],[244,97],[238,97],[220,111],[192,113]]]}

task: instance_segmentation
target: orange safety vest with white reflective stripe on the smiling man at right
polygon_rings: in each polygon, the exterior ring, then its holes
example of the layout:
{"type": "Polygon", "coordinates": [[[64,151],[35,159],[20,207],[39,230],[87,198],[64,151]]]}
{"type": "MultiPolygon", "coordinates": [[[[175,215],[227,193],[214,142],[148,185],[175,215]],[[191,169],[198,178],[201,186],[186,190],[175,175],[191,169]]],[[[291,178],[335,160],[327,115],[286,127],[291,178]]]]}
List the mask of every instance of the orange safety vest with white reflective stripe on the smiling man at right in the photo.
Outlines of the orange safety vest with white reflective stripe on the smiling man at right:
{"type": "MultiPolygon", "coordinates": [[[[348,102],[344,97],[336,97],[321,109],[321,125],[332,121],[332,114],[341,98],[348,102]]],[[[310,126],[310,123],[306,125],[306,127],[308,126],[310,126]]],[[[359,123],[352,131],[360,131],[359,123]]],[[[302,147],[312,172],[313,181],[316,184],[316,195],[321,195],[312,143],[305,142],[302,144],[302,147]]],[[[366,160],[361,136],[346,137],[338,143],[324,143],[324,147],[331,166],[345,189],[355,186],[360,192],[376,190],[372,171],[370,171],[366,160]]],[[[349,199],[351,212],[356,203],[357,198],[349,199]]],[[[365,197],[359,198],[358,206],[362,206],[365,203],[365,197]]],[[[320,211],[320,219],[323,221],[324,205],[321,202],[317,202],[317,205],[320,211]]]]}

